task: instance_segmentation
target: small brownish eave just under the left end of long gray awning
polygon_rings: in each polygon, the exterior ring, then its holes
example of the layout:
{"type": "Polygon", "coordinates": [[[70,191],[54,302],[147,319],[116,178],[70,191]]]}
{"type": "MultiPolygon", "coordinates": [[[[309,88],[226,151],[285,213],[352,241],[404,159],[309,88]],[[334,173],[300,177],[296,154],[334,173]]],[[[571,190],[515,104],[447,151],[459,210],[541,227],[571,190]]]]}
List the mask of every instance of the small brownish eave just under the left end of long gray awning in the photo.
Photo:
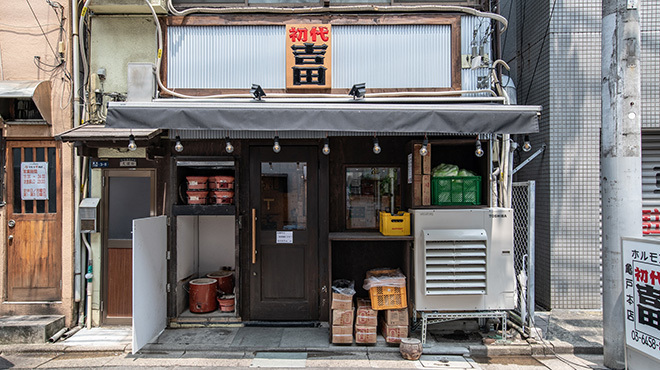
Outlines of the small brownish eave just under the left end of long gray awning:
{"type": "Polygon", "coordinates": [[[126,141],[129,135],[137,140],[150,140],[161,133],[158,128],[124,129],[104,125],[85,124],[55,135],[56,140],[74,141],[126,141]]]}

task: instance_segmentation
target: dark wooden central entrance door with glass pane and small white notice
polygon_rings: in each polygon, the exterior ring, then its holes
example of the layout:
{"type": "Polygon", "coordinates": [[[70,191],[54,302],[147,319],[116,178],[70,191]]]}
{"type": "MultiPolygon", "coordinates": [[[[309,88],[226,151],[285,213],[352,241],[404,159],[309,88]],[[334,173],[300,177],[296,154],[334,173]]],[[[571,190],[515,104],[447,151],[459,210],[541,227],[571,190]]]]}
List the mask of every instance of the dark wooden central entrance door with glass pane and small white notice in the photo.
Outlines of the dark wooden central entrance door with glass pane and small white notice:
{"type": "Polygon", "coordinates": [[[317,320],[316,147],[250,151],[250,319],[317,320]]]}

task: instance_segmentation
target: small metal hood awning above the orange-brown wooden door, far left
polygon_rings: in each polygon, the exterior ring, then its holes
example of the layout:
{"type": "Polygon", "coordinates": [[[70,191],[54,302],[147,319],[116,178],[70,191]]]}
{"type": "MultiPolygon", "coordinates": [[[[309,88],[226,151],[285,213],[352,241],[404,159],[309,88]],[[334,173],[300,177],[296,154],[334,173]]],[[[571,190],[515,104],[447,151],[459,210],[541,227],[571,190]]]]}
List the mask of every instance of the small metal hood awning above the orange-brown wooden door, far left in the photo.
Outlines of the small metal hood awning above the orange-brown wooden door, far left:
{"type": "Polygon", "coordinates": [[[8,124],[52,124],[50,81],[0,81],[0,116],[8,124]]]}

